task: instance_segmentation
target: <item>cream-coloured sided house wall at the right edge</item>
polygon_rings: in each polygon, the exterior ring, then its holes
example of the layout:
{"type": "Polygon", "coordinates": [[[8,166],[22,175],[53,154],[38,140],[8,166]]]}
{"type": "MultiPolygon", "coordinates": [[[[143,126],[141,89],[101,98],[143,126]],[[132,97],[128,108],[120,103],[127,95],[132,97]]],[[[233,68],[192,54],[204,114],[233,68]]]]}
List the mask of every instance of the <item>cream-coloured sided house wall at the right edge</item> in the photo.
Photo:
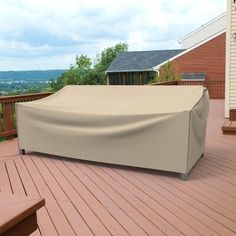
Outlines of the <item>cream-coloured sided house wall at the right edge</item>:
{"type": "Polygon", "coordinates": [[[236,108],[236,5],[233,0],[228,0],[225,92],[225,116],[228,117],[229,109],[236,108]]]}

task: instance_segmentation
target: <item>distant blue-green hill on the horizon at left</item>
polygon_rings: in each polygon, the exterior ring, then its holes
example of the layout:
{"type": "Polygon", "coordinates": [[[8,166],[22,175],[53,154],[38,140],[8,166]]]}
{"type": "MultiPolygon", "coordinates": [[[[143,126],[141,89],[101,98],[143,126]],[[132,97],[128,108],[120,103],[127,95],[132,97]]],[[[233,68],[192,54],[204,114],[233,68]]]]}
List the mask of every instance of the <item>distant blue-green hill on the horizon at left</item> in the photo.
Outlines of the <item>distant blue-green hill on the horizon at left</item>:
{"type": "Polygon", "coordinates": [[[0,94],[40,91],[66,70],[0,71],[0,94]]]}

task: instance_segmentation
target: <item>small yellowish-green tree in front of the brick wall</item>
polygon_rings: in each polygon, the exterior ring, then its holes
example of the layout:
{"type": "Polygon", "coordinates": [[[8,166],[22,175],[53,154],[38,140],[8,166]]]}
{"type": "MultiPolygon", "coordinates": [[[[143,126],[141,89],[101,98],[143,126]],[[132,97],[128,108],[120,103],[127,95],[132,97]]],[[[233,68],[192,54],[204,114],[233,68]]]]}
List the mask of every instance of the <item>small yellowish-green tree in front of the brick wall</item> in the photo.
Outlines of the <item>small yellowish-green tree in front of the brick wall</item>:
{"type": "Polygon", "coordinates": [[[159,75],[155,77],[155,82],[167,82],[173,80],[180,80],[180,75],[177,73],[174,64],[168,61],[166,64],[161,66],[159,75]]]}

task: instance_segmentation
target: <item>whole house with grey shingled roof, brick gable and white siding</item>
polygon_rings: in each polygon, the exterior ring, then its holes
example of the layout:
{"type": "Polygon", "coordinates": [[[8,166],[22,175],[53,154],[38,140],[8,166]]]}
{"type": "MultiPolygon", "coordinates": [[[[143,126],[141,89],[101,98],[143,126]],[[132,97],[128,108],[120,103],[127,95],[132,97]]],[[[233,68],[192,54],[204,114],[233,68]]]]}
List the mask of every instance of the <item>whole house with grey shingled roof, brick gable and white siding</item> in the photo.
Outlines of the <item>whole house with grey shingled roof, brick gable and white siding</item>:
{"type": "Polygon", "coordinates": [[[125,52],[107,70],[109,84],[146,84],[172,61],[183,85],[204,85],[211,98],[225,97],[226,13],[179,40],[180,50],[125,52]]]}

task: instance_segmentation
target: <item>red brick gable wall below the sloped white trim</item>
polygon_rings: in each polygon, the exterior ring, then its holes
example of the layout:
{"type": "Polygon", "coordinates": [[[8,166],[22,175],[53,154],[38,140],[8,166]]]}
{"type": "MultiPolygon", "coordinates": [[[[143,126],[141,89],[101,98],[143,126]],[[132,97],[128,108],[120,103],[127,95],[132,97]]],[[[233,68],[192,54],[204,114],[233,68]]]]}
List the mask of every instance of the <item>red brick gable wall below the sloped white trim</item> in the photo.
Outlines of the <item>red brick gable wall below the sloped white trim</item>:
{"type": "MultiPolygon", "coordinates": [[[[206,73],[202,83],[208,88],[211,98],[225,97],[225,33],[202,44],[173,60],[176,71],[182,73],[206,73]]],[[[183,81],[184,85],[199,84],[199,82],[183,81]]]]}

